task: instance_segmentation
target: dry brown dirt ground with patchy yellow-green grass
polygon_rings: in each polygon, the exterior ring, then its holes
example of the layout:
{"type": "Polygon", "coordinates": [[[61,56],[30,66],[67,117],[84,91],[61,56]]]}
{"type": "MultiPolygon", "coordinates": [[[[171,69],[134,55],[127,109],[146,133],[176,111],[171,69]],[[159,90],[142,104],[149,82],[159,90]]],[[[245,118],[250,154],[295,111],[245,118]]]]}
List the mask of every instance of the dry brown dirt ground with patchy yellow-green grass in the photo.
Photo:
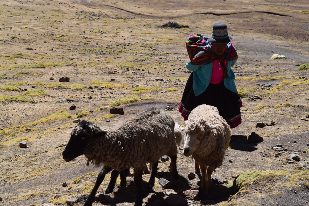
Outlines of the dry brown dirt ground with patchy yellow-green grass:
{"type": "MultiPolygon", "coordinates": [[[[192,33],[210,36],[216,22],[225,22],[234,38],[244,105],[243,122],[232,129],[226,159],[213,173],[228,182],[189,200],[182,192],[198,190],[200,179],[188,179],[194,160],[179,150],[177,187],[159,185],[159,178],[171,179],[169,161],[159,162],[144,205],[169,205],[167,192],[188,205],[309,205],[309,70],[296,69],[309,63],[308,10],[305,0],[0,0],[0,205],[69,205],[90,193],[100,168],[87,167],[83,156],[62,159],[77,117],[112,128],[158,107],[184,126],[177,111],[190,74],[184,42],[192,33]],[[188,27],[158,27],[168,21],[188,27]],[[112,106],[125,114],[109,114],[112,106]],[[252,132],[264,141],[249,142],[252,132]],[[300,161],[288,158],[293,153],[300,161]]],[[[144,187],[148,179],[143,175],[144,187]]],[[[118,179],[103,197],[93,205],[133,205],[133,177],[126,187],[118,179]]]]}

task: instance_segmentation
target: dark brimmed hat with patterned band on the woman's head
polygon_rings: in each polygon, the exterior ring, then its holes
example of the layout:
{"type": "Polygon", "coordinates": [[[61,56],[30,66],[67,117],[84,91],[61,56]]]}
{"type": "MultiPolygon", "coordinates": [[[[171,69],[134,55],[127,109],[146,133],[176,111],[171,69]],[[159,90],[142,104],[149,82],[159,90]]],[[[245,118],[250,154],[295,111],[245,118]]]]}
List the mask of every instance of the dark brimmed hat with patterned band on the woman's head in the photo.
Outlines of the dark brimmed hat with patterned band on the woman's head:
{"type": "Polygon", "coordinates": [[[228,35],[225,23],[215,23],[213,26],[213,33],[210,38],[208,38],[208,43],[221,44],[229,43],[233,41],[233,37],[228,35]]]}

